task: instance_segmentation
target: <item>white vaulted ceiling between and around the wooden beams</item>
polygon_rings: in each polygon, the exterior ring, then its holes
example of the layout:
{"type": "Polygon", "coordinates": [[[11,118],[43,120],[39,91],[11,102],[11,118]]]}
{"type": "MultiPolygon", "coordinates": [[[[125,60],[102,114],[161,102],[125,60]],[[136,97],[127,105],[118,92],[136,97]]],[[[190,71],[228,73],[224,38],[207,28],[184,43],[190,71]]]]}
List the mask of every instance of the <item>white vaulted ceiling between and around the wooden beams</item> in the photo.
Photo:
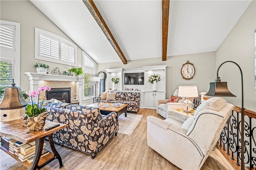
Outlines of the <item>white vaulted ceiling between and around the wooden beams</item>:
{"type": "MultiPolygon", "coordinates": [[[[121,61],[82,0],[30,0],[97,63],[121,61]]],[[[216,51],[252,0],[170,1],[167,56],[216,51]]],[[[94,0],[127,60],[162,57],[160,0],[94,0]]]]}

